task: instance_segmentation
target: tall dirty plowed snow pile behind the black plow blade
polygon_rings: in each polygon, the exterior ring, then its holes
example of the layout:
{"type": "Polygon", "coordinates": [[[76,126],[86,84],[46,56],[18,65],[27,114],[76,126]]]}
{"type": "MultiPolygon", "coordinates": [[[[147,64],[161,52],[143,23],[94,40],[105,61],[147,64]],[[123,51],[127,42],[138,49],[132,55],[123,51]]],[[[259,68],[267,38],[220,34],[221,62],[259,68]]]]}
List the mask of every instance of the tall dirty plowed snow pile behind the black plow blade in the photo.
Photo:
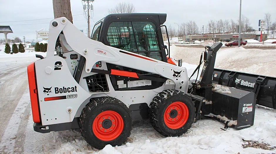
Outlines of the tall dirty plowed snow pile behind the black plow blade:
{"type": "MultiPolygon", "coordinates": [[[[185,63],[198,65],[204,48],[172,45],[170,50],[171,57],[176,60],[182,58],[185,63]]],[[[183,66],[185,67],[185,64],[183,66]]],[[[276,49],[244,49],[243,47],[219,49],[215,68],[276,77],[276,49]]]]}

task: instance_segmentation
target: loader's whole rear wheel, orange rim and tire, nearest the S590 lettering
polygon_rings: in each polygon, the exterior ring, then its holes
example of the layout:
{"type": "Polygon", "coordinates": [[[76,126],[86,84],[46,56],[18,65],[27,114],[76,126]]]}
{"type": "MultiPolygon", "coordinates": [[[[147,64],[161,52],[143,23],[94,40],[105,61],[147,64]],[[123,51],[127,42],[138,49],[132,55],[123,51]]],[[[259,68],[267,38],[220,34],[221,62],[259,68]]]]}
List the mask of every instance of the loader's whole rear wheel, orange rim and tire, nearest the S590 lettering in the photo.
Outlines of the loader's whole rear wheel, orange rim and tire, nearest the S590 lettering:
{"type": "Polygon", "coordinates": [[[127,106],[112,97],[93,98],[80,115],[81,134],[97,149],[122,145],[130,136],[131,124],[127,106]]]}

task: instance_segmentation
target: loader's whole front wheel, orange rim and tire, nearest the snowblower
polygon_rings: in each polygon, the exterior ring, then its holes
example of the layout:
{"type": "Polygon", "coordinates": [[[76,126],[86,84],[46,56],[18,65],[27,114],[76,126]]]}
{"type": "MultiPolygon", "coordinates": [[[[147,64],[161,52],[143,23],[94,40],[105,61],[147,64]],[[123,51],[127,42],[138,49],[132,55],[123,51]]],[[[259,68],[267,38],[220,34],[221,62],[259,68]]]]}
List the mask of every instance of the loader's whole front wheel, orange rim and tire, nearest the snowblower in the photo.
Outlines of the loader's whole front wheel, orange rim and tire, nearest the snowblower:
{"type": "Polygon", "coordinates": [[[180,136],[191,128],[195,105],[185,93],[170,89],[157,94],[150,103],[153,128],[164,136],[180,136]]]}

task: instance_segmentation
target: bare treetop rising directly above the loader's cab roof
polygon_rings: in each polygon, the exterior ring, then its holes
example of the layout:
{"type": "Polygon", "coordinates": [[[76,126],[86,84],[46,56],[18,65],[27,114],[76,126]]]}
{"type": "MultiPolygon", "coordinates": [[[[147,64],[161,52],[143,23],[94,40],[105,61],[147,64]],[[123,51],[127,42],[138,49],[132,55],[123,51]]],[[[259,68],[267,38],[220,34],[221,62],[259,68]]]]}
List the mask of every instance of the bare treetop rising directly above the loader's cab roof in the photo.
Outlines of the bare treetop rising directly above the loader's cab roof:
{"type": "Polygon", "coordinates": [[[117,3],[114,8],[108,9],[108,13],[134,13],[136,12],[135,7],[132,3],[120,2],[117,3]]]}

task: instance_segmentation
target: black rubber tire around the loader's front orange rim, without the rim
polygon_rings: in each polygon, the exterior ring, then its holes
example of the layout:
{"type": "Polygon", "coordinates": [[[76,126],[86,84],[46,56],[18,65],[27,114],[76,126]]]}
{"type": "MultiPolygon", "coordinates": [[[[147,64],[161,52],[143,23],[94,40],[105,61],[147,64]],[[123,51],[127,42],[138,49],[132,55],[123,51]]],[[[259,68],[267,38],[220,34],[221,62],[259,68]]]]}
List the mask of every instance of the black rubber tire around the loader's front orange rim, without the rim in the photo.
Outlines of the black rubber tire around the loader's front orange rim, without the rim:
{"type": "Polygon", "coordinates": [[[196,115],[195,111],[195,105],[189,96],[181,91],[169,89],[160,92],[153,98],[153,101],[150,103],[149,120],[153,128],[163,136],[180,136],[191,128],[196,115]],[[164,123],[164,112],[175,101],[185,103],[189,110],[187,122],[179,129],[171,129],[164,123]]]}

